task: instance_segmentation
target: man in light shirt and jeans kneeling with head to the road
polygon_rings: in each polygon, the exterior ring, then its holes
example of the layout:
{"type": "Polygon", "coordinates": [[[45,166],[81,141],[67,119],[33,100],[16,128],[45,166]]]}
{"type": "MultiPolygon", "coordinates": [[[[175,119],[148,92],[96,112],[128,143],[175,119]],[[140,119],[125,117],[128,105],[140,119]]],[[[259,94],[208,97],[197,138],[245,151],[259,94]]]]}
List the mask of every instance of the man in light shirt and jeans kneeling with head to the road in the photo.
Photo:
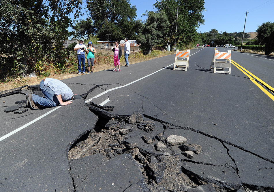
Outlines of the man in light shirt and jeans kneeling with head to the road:
{"type": "Polygon", "coordinates": [[[27,93],[27,107],[37,110],[41,106],[55,107],[59,103],[64,106],[71,104],[73,99],[80,99],[80,95],[74,95],[72,90],[58,79],[46,78],[40,82],[40,89],[46,98],[27,93]]]}

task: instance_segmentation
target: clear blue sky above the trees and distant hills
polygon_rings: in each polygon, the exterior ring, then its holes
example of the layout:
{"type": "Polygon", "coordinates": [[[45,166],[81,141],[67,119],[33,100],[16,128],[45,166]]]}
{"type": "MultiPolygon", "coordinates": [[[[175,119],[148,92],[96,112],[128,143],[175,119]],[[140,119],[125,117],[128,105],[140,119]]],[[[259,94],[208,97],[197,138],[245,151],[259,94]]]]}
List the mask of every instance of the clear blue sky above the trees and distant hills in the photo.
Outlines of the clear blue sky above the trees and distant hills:
{"type": "MultiPolygon", "coordinates": [[[[142,20],[146,19],[141,17],[146,10],[155,11],[152,7],[155,2],[155,0],[130,0],[132,5],[136,5],[137,19],[142,20]]],[[[212,28],[219,32],[243,32],[246,11],[248,13],[245,32],[255,32],[264,22],[274,22],[274,0],[205,0],[204,7],[207,10],[202,13],[205,22],[197,30],[201,33],[212,28]]]]}

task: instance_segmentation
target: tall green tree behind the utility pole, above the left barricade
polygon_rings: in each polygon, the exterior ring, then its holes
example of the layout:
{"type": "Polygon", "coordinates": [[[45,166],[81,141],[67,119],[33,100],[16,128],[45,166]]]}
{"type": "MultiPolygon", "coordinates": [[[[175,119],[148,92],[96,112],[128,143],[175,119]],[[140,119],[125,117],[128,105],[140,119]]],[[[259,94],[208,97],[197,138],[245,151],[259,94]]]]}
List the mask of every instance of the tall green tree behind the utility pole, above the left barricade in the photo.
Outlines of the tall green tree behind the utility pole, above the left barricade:
{"type": "MultiPolygon", "coordinates": [[[[190,40],[195,39],[198,26],[204,24],[202,15],[202,12],[205,11],[204,0],[160,0],[153,6],[157,9],[157,12],[164,10],[170,23],[174,21],[177,7],[179,7],[178,42],[188,44],[190,40]]],[[[175,28],[173,28],[172,34],[175,35],[175,28]]]]}

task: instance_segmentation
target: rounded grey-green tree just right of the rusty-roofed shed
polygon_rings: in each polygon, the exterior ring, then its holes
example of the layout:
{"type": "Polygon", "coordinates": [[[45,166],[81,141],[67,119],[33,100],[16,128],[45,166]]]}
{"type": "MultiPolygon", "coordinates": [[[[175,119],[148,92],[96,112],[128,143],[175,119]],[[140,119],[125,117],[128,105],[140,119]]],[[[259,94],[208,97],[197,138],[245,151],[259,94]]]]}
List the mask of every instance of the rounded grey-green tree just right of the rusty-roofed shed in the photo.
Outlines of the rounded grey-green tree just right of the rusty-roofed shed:
{"type": "Polygon", "coordinates": [[[151,53],[153,46],[162,44],[164,37],[167,35],[169,21],[164,11],[155,13],[150,11],[147,13],[146,22],[141,25],[141,30],[137,35],[136,42],[140,43],[142,50],[151,53]]]}

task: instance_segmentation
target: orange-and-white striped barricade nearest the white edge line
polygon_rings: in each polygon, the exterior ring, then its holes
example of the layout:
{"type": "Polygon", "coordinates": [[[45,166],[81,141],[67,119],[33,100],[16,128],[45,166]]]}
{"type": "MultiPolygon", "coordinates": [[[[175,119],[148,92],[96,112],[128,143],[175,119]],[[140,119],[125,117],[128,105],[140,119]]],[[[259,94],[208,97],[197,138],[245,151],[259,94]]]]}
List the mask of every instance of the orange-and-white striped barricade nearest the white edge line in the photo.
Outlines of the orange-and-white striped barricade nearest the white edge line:
{"type": "Polygon", "coordinates": [[[189,49],[187,51],[179,51],[179,49],[176,50],[173,70],[187,71],[189,67],[189,53],[189,49]]]}

